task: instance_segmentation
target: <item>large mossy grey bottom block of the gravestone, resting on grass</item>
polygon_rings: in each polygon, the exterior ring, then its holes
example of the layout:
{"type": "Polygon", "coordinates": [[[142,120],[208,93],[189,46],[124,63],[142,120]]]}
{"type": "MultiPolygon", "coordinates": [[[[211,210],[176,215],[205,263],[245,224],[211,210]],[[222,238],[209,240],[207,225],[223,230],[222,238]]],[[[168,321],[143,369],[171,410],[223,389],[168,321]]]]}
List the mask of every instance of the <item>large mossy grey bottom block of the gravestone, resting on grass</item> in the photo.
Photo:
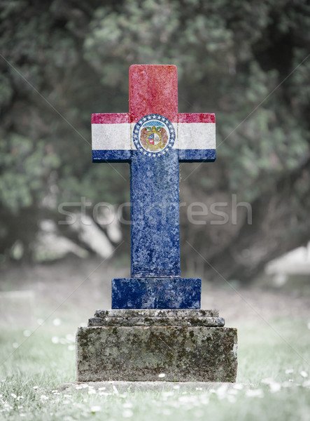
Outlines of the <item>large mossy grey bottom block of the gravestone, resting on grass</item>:
{"type": "Polygon", "coordinates": [[[237,375],[233,328],[133,326],[79,328],[79,381],[232,382],[237,375]]]}

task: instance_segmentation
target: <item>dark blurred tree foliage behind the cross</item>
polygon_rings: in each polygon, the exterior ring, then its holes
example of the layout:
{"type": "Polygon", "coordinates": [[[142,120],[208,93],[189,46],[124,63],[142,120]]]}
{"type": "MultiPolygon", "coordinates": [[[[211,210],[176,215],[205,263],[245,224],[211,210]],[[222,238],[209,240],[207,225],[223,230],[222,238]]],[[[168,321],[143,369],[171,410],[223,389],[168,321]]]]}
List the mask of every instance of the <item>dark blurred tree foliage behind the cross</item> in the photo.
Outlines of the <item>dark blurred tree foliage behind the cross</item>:
{"type": "MultiPolygon", "coordinates": [[[[59,203],[129,201],[129,166],[91,162],[90,114],[127,112],[132,64],[177,65],[179,112],[216,113],[216,162],[181,164],[183,270],[216,279],[211,264],[225,279],[248,281],[309,241],[307,1],[15,0],[0,8],[2,262],[17,242],[22,260],[33,260],[40,222],[57,225],[59,203]],[[251,203],[251,225],[244,206],[232,218],[236,200],[251,203]],[[209,211],[190,224],[194,201],[209,210],[227,203],[218,209],[228,222],[209,211]]],[[[129,255],[128,241],[123,248],[129,255]]]]}

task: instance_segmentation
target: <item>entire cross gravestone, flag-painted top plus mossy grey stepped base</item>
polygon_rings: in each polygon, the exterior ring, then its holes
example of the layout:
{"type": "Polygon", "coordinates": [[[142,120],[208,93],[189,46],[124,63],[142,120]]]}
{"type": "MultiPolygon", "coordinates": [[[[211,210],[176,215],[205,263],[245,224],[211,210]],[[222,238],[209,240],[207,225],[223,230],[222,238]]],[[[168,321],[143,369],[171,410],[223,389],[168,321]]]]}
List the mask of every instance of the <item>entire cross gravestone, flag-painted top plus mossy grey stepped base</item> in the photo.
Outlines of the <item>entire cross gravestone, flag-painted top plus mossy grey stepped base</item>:
{"type": "Polygon", "coordinates": [[[76,335],[79,382],[234,382],[237,329],[180,273],[178,162],[214,161],[214,114],[178,114],[175,66],[129,70],[129,114],[93,114],[94,162],[129,162],[132,276],[76,335]]]}

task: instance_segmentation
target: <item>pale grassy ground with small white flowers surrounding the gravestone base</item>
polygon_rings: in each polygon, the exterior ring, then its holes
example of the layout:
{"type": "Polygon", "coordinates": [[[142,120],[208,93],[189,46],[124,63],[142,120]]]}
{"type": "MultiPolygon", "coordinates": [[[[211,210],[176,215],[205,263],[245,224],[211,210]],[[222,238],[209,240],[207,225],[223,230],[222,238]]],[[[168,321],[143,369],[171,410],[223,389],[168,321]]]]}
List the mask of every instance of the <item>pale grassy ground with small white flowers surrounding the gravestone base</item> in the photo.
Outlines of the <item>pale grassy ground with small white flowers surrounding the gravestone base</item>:
{"type": "Polygon", "coordinates": [[[220,276],[218,284],[203,283],[202,308],[220,309],[226,326],[238,328],[233,386],[185,389],[160,377],[162,387],[149,391],[119,385],[61,390],[76,377],[77,327],[95,309],[111,307],[111,278],[128,273],[117,261],[75,258],[2,269],[0,419],[229,420],[233,414],[238,420],[310,420],[308,283],[273,288],[264,279],[245,288],[220,276]],[[10,290],[29,293],[3,293],[10,290]]]}

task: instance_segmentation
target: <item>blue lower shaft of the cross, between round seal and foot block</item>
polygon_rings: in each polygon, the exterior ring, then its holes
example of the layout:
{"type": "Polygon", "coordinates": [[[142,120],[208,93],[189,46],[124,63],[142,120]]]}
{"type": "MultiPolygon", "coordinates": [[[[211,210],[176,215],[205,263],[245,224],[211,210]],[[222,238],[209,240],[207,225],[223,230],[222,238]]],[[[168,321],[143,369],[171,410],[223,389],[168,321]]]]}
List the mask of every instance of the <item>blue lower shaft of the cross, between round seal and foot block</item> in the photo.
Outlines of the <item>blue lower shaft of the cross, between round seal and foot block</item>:
{"type": "Polygon", "coordinates": [[[130,192],[132,277],[180,276],[178,152],[134,151],[130,192]]]}

